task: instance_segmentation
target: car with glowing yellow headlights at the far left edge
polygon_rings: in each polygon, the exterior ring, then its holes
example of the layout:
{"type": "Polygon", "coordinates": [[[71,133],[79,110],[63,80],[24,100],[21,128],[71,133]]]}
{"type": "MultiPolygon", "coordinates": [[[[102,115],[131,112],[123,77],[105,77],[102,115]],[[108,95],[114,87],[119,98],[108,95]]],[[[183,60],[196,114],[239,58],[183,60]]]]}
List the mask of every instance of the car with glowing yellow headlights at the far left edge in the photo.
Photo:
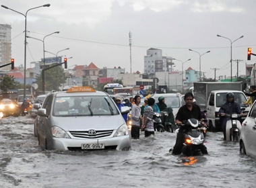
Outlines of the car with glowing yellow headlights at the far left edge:
{"type": "Polygon", "coordinates": [[[20,107],[11,99],[2,99],[0,101],[0,112],[3,118],[10,115],[18,117],[20,115],[20,107]]]}

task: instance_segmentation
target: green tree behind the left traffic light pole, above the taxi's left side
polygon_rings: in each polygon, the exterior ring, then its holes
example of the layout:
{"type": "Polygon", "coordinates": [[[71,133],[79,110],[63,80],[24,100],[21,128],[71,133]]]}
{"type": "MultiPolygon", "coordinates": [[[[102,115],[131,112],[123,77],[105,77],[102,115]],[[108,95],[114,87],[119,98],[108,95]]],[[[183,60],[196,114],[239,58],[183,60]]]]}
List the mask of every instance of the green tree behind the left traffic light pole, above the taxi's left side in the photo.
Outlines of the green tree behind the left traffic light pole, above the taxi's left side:
{"type": "MultiPolygon", "coordinates": [[[[45,83],[46,83],[46,91],[51,91],[53,89],[59,89],[62,83],[65,83],[67,77],[65,77],[64,70],[61,66],[56,66],[54,68],[50,68],[49,70],[44,71],[45,75],[45,83]]],[[[40,75],[36,76],[36,83],[38,88],[42,88],[42,72],[40,75]]]]}

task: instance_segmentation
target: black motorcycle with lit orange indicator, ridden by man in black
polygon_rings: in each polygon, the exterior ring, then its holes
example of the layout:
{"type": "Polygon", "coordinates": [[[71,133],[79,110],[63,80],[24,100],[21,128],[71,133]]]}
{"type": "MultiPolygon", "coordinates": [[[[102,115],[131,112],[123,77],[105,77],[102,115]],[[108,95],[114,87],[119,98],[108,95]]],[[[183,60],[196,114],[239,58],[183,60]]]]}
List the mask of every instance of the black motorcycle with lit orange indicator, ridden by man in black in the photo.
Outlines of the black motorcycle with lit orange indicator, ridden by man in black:
{"type": "MultiPolygon", "coordinates": [[[[203,127],[201,122],[194,118],[183,122],[181,126],[184,126],[184,142],[182,152],[186,156],[193,156],[196,154],[208,154],[207,148],[204,144],[203,132],[199,129],[203,127]]],[[[176,134],[179,132],[179,129],[175,130],[176,134]]]]}

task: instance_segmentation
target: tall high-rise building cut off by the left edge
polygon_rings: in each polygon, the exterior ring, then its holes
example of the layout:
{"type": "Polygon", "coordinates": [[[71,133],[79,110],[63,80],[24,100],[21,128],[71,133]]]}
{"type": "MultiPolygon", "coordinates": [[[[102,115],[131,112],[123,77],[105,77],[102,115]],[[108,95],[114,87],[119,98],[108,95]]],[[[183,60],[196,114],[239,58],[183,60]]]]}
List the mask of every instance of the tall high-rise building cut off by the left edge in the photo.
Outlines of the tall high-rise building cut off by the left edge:
{"type": "MultiPolygon", "coordinates": [[[[0,65],[11,62],[11,26],[0,24],[0,65]]],[[[2,70],[9,71],[11,65],[4,66],[2,70]]]]}

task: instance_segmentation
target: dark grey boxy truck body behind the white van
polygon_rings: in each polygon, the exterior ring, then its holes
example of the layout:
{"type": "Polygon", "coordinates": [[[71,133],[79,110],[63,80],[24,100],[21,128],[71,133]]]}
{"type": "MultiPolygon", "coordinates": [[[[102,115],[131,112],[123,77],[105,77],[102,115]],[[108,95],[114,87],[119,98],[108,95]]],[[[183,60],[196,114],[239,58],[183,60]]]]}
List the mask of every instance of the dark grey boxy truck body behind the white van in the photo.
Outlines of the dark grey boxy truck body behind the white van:
{"type": "Polygon", "coordinates": [[[211,91],[236,90],[243,91],[242,82],[199,82],[193,83],[193,95],[201,110],[207,110],[207,101],[211,91]]]}

